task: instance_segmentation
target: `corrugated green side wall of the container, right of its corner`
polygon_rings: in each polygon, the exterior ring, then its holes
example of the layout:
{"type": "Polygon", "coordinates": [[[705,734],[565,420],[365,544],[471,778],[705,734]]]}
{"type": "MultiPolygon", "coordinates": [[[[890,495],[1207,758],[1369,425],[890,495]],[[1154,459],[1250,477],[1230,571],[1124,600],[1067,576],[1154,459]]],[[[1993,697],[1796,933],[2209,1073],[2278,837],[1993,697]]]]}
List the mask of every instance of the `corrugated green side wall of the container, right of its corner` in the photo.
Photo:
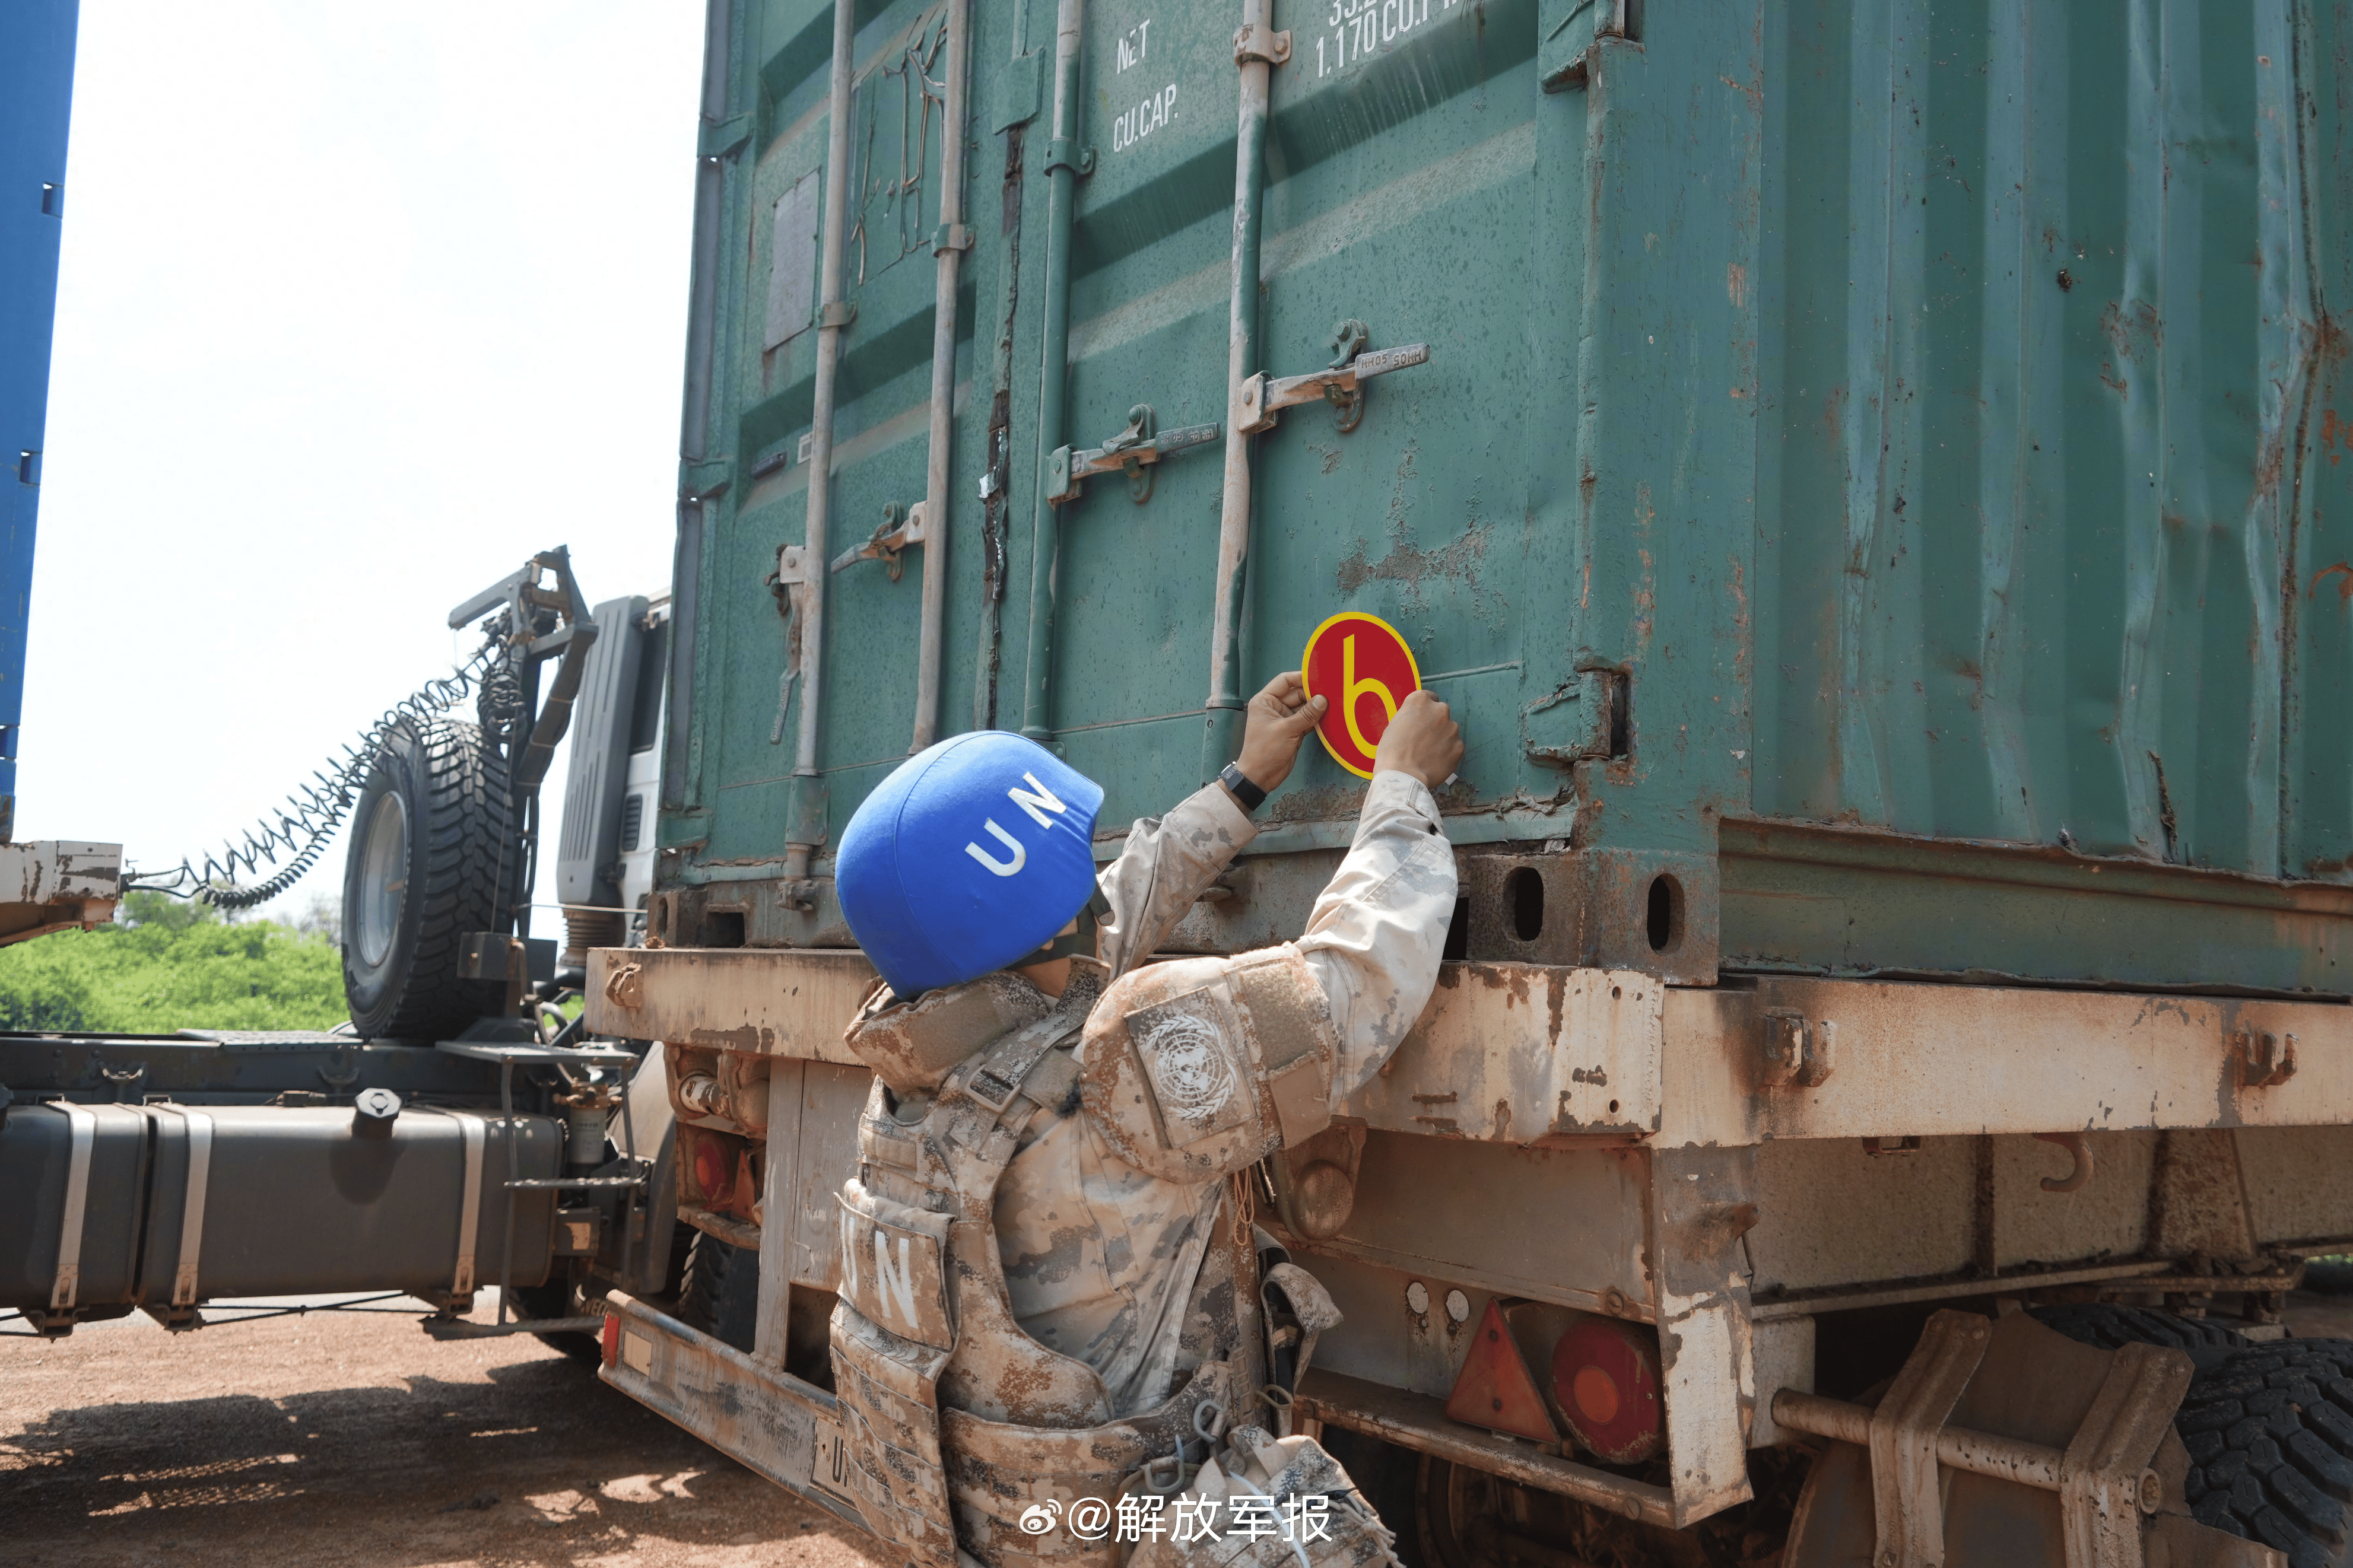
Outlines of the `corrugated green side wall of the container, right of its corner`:
{"type": "Polygon", "coordinates": [[[2341,7],[1767,7],[1755,811],[2344,879],[2341,7]]]}

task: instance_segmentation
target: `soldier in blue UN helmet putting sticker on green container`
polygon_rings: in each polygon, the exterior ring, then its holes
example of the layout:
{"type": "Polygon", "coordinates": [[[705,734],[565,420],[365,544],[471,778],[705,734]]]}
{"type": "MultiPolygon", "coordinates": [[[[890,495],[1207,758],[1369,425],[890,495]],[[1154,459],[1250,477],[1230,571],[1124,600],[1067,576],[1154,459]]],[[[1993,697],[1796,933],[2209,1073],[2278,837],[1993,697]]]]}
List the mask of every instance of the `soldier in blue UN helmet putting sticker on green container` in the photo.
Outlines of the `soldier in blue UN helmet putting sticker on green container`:
{"type": "Polygon", "coordinates": [[[1219,783],[1136,820],[1101,875],[1101,788],[1002,731],[911,757],[842,832],[842,914],[882,983],[847,1030],[875,1086],[833,1373],[866,1523],[927,1568],[1118,1563],[1122,1497],[1278,1474],[1344,1493],[1318,1563],[1388,1556],[1313,1441],[1268,1446],[1339,1314],[1252,1227],[1252,1166],[1322,1131],[1438,983],[1454,851],[1431,790],[1464,750],[1445,703],[1398,705],[1299,940],[1144,961],[1322,710],[1278,677],[1219,783]]]}

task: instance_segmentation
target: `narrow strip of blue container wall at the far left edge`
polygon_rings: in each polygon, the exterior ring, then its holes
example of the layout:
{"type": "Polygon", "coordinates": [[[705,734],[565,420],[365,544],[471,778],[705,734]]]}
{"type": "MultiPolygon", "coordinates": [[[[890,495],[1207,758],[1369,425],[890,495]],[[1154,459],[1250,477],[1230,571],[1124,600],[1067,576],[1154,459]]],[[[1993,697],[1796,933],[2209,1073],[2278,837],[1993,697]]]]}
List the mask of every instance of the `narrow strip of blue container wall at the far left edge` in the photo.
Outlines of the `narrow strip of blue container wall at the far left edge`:
{"type": "Polygon", "coordinates": [[[0,5],[0,844],[16,830],[16,729],[49,418],[56,247],[80,0],[0,5]]]}

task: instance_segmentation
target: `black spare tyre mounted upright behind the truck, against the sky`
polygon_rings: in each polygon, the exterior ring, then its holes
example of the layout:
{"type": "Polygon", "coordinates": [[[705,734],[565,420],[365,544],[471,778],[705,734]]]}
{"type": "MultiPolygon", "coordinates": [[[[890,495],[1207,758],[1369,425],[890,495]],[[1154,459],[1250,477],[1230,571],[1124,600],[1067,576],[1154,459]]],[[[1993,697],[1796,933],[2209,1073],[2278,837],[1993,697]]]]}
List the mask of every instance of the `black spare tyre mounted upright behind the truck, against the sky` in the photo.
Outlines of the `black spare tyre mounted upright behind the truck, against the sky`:
{"type": "Polygon", "coordinates": [[[376,752],[344,858],[344,997],[360,1039],[447,1039],[506,1011],[461,980],[468,931],[506,931],[522,879],[506,757],[452,719],[400,719],[376,752]]]}

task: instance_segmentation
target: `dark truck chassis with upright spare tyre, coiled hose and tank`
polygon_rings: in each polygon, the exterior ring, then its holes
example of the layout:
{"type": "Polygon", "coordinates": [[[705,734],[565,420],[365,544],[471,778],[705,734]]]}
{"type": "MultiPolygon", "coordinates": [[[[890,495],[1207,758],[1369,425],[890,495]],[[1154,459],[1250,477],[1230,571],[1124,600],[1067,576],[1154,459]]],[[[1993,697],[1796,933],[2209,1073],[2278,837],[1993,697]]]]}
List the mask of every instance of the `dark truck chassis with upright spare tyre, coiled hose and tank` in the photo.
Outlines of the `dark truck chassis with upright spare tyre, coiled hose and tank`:
{"type": "Polygon", "coordinates": [[[449,625],[482,628],[473,658],[261,830],[127,877],[252,907],[348,823],[348,1023],[0,1034],[0,1309],[33,1333],[129,1312],[198,1331],[358,1293],[421,1300],[438,1338],[593,1354],[607,1288],[675,1298],[689,1258],[664,1197],[659,1044],[591,1037],[567,1006],[591,943],[642,940],[666,599],[591,607],[553,548],[449,625]],[[558,940],[532,936],[532,886],[567,736],[558,940]],[[475,1319],[485,1288],[499,1307],[475,1319]]]}

